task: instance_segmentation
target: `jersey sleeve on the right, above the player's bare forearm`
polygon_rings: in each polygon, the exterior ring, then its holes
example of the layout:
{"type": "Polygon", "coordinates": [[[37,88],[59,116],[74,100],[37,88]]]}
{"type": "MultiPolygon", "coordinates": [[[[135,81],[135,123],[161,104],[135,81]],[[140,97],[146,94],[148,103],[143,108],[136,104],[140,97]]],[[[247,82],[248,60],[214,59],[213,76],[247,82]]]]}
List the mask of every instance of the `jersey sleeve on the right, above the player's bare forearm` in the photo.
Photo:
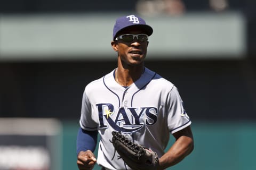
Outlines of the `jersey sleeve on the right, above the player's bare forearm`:
{"type": "Polygon", "coordinates": [[[189,126],[191,124],[190,118],[183,108],[183,101],[175,86],[170,91],[167,100],[169,131],[175,133],[189,126]]]}

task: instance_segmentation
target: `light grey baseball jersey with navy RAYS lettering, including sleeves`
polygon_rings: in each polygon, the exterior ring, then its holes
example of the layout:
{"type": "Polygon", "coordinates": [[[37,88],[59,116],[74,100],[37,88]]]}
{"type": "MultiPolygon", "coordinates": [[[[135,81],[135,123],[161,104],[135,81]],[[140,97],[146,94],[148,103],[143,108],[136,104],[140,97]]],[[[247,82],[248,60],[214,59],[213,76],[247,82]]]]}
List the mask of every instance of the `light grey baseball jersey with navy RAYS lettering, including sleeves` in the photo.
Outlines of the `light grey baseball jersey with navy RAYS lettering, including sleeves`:
{"type": "Polygon", "coordinates": [[[97,163],[107,169],[130,169],[112,145],[112,131],[164,154],[169,135],[191,124],[177,88],[145,68],[140,79],[124,88],[115,81],[115,70],[92,81],[84,90],[81,128],[98,130],[97,163]]]}

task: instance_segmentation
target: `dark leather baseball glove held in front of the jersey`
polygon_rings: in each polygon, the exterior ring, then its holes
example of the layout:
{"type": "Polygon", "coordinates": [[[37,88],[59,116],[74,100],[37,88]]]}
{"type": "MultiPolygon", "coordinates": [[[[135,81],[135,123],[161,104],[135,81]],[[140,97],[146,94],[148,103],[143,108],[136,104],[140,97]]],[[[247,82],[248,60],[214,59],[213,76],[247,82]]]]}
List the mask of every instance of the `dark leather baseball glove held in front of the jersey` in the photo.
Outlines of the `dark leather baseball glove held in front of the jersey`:
{"type": "Polygon", "coordinates": [[[156,170],[159,158],[156,152],[133,143],[121,132],[112,132],[112,143],[124,162],[133,170],[156,170]]]}

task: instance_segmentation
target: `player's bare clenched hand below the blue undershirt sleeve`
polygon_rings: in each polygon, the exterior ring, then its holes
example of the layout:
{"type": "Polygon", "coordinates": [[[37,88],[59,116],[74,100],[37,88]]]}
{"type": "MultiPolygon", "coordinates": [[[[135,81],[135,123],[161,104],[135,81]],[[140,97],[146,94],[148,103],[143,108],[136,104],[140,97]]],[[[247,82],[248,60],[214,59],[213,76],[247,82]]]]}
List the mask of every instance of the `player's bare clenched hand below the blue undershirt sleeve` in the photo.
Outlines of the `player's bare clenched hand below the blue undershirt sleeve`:
{"type": "Polygon", "coordinates": [[[77,156],[77,166],[80,170],[91,170],[96,164],[97,159],[95,158],[91,150],[81,151],[77,156]]]}

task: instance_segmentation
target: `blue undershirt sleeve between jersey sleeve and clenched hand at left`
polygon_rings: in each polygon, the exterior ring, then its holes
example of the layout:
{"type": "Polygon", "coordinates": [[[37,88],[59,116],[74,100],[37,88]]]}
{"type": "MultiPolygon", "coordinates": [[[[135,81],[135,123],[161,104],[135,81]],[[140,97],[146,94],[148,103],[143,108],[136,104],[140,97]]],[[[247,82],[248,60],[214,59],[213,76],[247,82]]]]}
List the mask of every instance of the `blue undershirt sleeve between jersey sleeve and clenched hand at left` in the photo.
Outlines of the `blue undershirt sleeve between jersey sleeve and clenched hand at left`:
{"type": "Polygon", "coordinates": [[[79,128],[76,139],[76,154],[80,151],[95,150],[97,146],[98,131],[86,131],[79,128]]]}

